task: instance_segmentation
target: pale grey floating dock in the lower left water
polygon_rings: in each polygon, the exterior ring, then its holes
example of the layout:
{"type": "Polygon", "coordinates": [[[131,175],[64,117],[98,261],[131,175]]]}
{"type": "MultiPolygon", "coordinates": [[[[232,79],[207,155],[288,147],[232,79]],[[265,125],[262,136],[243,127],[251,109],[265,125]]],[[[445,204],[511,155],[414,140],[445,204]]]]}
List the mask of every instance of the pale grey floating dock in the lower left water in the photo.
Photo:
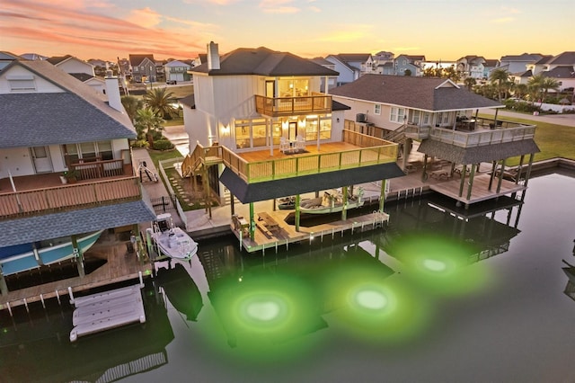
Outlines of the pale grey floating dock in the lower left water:
{"type": "Polygon", "coordinates": [[[80,336],[100,333],[132,323],[145,323],[146,312],[140,291],[141,285],[112,289],[86,297],[75,298],[70,342],[80,336]]]}

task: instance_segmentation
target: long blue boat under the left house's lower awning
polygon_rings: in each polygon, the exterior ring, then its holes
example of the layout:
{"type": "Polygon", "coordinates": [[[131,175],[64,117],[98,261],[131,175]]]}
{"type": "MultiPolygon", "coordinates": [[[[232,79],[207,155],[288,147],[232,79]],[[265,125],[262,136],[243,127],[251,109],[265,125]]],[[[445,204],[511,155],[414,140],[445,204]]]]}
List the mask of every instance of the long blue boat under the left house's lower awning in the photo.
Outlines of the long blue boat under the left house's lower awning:
{"type": "MultiPolygon", "coordinates": [[[[82,253],[87,251],[98,240],[102,231],[77,235],[77,250],[82,253]]],[[[32,244],[7,246],[0,248],[0,272],[4,275],[26,272],[75,256],[75,248],[70,236],[37,241],[32,244]]]]}

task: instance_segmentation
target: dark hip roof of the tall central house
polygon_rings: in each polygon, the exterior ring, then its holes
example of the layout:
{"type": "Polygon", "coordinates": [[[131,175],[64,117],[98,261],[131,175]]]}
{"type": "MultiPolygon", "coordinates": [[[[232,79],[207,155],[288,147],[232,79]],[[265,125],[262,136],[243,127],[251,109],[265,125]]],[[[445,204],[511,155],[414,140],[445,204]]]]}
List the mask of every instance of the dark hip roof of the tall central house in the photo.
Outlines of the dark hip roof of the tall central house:
{"type": "Polygon", "coordinates": [[[315,64],[307,58],[292,53],[279,52],[264,47],[235,49],[220,58],[219,69],[208,69],[205,62],[190,72],[209,76],[338,76],[339,73],[315,64]]]}

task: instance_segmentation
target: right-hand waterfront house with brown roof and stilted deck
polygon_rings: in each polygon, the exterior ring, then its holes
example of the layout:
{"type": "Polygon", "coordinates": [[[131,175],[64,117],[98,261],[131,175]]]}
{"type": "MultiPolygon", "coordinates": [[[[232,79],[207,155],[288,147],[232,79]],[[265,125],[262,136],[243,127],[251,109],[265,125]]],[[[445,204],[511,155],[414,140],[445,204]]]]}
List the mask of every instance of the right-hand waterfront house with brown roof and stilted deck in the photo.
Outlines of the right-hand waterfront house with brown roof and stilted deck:
{"type": "Polygon", "coordinates": [[[515,184],[503,183],[506,161],[520,156],[520,174],[525,156],[530,168],[539,151],[535,126],[499,120],[497,112],[494,119],[479,118],[479,110],[497,110],[504,105],[446,78],[366,75],[333,89],[332,97],[349,105],[344,112],[345,129],[402,144],[405,172],[419,167],[423,181],[428,176],[445,181],[430,187],[466,205],[523,190],[528,171],[521,183],[518,176],[515,184]],[[413,140],[420,142],[421,164],[410,163],[413,140]],[[433,165],[429,164],[431,158],[433,165]],[[473,188],[481,163],[491,164],[491,172],[481,175],[484,184],[476,179],[473,188]],[[458,180],[456,173],[461,174],[458,180]]]}

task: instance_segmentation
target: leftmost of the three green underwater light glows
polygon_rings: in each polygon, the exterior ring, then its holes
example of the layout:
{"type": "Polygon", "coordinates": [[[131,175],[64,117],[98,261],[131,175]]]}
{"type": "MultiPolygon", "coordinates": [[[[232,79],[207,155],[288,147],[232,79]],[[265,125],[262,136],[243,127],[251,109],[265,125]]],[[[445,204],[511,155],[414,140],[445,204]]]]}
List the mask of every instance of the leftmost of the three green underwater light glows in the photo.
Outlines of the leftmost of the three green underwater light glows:
{"type": "Polygon", "coordinates": [[[244,361],[301,358],[305,350],[296,346],[297,339],[326,326],[314,290],[294,275],[263,272],[230,279],[210,300],[227,343],[241,351],[244,361]]]}

